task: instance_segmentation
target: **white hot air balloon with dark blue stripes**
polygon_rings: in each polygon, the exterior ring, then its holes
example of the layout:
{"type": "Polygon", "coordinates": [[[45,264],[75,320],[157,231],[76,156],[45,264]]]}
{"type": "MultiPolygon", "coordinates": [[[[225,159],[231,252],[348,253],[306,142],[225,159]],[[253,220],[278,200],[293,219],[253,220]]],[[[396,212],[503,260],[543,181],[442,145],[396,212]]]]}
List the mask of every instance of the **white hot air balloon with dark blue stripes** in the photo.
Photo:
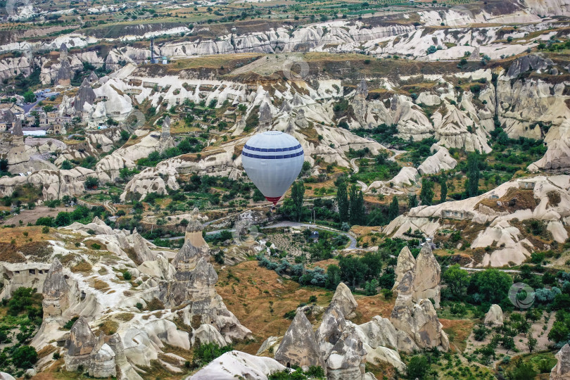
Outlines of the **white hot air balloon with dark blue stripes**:
{"type": "Polygon", "coordinates": [[[295,181],[304,161],[305,152],[299,141],[279,131],[255,134],[241,151],[243,169],[274,205],[295,181]]]}

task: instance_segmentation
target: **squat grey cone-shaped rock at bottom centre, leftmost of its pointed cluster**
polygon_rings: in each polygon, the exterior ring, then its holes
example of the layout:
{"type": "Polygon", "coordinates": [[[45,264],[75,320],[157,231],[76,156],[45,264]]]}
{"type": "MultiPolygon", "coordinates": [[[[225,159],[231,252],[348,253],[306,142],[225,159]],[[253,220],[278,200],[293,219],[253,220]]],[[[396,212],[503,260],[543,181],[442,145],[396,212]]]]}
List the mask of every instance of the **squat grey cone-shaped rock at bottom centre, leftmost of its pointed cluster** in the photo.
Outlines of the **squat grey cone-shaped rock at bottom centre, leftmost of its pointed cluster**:
{"type": "Polygon", "coordinates": [[[289,329],[277,348],[275,360],[286,367],[298,365],[305,370],[311,366],[327,368],[315,338],[315,332],[312,331],[312,325],[305,313],[298,312],[293,318],[293,322],[289,325],[289,329]]]}

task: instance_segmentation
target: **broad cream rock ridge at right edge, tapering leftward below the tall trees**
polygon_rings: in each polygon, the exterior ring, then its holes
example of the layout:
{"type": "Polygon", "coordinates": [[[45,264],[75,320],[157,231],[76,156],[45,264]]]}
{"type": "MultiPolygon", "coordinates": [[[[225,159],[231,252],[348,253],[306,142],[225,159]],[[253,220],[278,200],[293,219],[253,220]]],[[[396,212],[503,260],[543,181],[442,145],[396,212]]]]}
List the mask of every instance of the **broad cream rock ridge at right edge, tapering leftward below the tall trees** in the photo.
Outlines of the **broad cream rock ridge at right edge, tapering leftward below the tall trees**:
{"type": "MultiPolygon", "coordinates": [[[[502,266],[510,262],[521,263],[531,255],[531,250],[541,249],[534,246],[527,238],[526,231],[514,226],[519,221],[541,220],[547,231],[552,233],[555,241],[565,241],[567,232],[564,229],[566,208],[569,207],[568,189],[570,179],[566,175],[534,176],[525,179],[514,179],[501,184],[486,194],[465,199],[450,201],[433,206],[412,208],[405,215],[393,220],[384,232],[390,236],[402,236],[407,229],[420,229],[428,236],[445,223],[448,218],[467,220],[469,225],[486,224],[471,241],[471,248],[495,247],[485,253],[481,262],[473,262],[474,266],[502,266]],[[498,202],[508,203],[519,191],[530,192],[536,205],[519,205],[515,210],[502,208],[498,202]],[[560,197],[559,203],[549,203],[547,194],[560,197]],[[494,243],[495,242],[495,243],[494,243]]],[[[536,242],[535,242],[536,243],[536,242]]]]}

